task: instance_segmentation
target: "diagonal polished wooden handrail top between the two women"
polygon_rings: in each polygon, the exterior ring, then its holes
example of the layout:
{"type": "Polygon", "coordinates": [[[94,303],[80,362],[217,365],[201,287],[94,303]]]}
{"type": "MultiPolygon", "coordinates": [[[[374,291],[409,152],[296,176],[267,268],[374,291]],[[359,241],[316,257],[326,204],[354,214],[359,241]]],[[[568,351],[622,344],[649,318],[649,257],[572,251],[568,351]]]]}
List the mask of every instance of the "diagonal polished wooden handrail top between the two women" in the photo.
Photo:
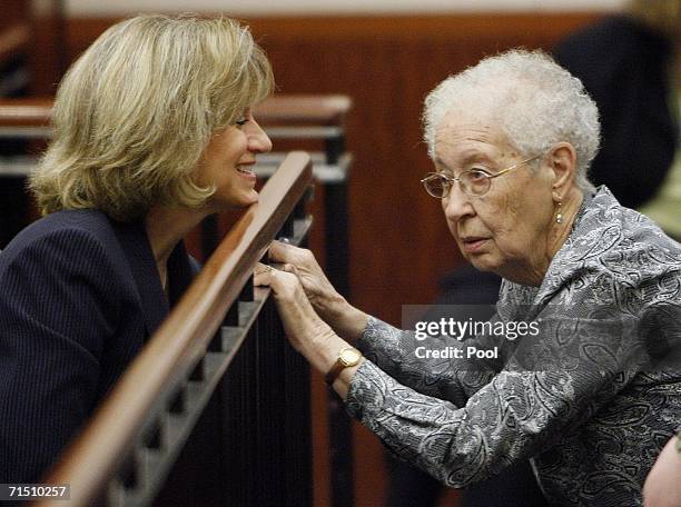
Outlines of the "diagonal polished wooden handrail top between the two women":
{"type": "MultiPolygon", "coordinates": [[[[282,163],[172,312],[126,370],[91,424],[62,455],[47,484],[69,484],[70,506],[87,506],[100,494],[130,453],[169,386],[187,378],[206,354],[227,309],[235,304],[254,266],[284,226],[312,182],[307,153],[293,152],[282,163]]],[[[62,501],[38,505],[56,507],[62,501]]]]}

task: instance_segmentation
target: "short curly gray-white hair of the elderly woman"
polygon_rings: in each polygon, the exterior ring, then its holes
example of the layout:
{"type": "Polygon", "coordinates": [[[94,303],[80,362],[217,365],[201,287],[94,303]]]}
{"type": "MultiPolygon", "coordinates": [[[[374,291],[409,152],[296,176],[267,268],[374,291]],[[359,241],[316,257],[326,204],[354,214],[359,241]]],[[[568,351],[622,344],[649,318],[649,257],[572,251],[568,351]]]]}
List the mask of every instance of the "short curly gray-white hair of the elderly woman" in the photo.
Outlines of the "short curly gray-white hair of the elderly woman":
{"type": "Polygon", "coordinates": [[[582,192],[594,191],[586,171],[599,151],[598,108],[582,82],[546,53],[511,50],[441,82],[426,97],[423,113],[431,158],[443,118],[472,108],[495,121],[509,143],[524,156],[570,142],[576,152],[575,183],[582,192]]]}

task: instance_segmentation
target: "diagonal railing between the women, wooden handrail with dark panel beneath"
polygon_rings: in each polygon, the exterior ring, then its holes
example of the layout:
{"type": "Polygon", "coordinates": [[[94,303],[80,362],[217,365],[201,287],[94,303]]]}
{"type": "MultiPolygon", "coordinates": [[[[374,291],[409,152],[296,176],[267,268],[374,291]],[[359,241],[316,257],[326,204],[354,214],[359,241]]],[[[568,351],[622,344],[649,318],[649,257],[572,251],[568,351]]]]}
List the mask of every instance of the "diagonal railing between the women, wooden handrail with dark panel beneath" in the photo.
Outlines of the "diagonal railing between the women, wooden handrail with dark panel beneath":
{"type": "Polygon", "coordinates": [[[70,506],[159,495],[159,505],[310,505],[307,367],[251,274],[274,238],[304,241],[312,178],[306,153],[285,159],[66,450],[46,484],[69,485],[70,506]]]}

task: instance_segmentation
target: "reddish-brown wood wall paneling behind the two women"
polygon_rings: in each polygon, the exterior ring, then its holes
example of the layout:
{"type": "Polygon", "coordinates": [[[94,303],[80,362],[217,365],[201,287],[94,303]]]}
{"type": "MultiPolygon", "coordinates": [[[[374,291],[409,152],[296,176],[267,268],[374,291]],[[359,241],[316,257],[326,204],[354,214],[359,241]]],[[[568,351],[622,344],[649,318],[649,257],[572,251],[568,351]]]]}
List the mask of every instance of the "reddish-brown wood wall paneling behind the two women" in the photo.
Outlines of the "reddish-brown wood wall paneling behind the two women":
{"type": "MultiPolygon", "coordinates": [[[[461,260],[436,200],[420,187],[431,169],[421,142],[425,95],[481,57],[524,46],[550,49],[594,13],[245,20],[267,50],[282,92],[347,93],[351,288],[361,308],[398,324],[401,306],[433,299],[461,260]]],[[[71,19],[71,58],[110,19],[71,19]]],[[[320,208],[319,208],[320,209],[320,208]]],[[[312,245],[318,243],[319,230],[312,245]]],[[[358,506],[382,505],[376,439],[357,430],[358,506]]]]}

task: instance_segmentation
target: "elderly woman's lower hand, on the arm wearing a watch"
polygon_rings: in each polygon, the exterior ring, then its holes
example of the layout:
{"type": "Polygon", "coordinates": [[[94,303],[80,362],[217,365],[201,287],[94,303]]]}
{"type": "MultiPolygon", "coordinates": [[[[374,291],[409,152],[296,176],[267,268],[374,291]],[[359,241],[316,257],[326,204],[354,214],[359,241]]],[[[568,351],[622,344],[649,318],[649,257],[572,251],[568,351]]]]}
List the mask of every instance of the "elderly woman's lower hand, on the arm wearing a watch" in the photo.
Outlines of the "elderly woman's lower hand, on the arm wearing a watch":
{"type": "Polygon", "coordinates": [[[309,350],[335,336],[315,312],[296,275],[261,264],[254,275],[255,286],[270,287],[274,291],[284,330],[298,352],[307,356],[309,350]]]}

